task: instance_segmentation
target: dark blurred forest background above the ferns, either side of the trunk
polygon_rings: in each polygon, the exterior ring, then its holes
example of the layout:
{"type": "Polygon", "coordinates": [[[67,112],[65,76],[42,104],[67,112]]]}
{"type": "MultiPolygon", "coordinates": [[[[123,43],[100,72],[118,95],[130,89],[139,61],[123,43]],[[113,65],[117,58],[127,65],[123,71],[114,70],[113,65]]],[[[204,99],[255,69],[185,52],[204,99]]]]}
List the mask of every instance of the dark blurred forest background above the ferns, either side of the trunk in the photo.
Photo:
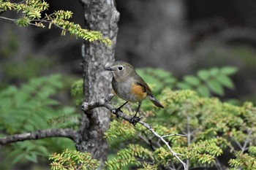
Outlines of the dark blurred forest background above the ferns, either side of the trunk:
{"type": "MultiPolygon", "coordinates": [[[[71,10],[72,20],[84,26],[79,1],[47,1],[48,13],[71,10]]],[[[227,90],[226,96],[255,102],[255,0],[123,0],[116,5],[121,14],[116,60],[162,68],[175,77],[213,66],[236,66],[236,89],[227,90]]],[[[14,12],[1,16],[18,17],[14,12]]],[[[58,28],[10,23],[0,23],[0,31],[0,88],[53,72],[82,76],[82,39],[60,36],[58,28]]]]}

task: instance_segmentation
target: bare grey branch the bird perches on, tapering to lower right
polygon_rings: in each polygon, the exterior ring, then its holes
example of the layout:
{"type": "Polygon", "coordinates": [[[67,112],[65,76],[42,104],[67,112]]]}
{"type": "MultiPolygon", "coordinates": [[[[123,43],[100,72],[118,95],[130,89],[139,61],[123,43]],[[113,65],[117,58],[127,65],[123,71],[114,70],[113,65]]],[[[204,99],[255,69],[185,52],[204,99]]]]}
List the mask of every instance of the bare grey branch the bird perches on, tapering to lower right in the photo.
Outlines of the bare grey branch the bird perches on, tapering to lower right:
{"type": "MultiPolygon", "coordinates": [[[[110,100],[113,98],[113,94],[110,94],[107,98],[102,98],[99,99],[99,101],[91,101],[91,102],[83,102],[81,109],[83,110],[83,112],[85,114],[91,114],[91,109],[97,108],[97,107],[105,107],[107,109],[109,109],[113,114],[115,114],[118,117],[123,118],[124,120],[131,120],[132,116],[129,115],[125,115],[123,112],[116,110],[111,104],[110,104],[110,100]]],[[[142,120],[138,120],[138,123],[140,123],[141,125],[143,125],[144,127],[146,127],[148,129],[148,131],[151,131],[152,134],[154,134],[154,136],[157,136],[158,139],[160,139],[168,148],[168,150],[170,150],[170,152],[173,154],[174,157],[176,157],[178,159],[178,161],[180,163],[183,164],[184,166],[184,170],[187,170],[187,165],[186,163],[184,163],[184,161],[181,160],[181,158],[178,157],[178,153],[174,152],[170,145],[168,144],[168,142],[159,134],[157,134],[156,131],[154,131],[153,128],[151,128],[151,125],[148,125],[148,123],[143,122],[142,120]]]]}

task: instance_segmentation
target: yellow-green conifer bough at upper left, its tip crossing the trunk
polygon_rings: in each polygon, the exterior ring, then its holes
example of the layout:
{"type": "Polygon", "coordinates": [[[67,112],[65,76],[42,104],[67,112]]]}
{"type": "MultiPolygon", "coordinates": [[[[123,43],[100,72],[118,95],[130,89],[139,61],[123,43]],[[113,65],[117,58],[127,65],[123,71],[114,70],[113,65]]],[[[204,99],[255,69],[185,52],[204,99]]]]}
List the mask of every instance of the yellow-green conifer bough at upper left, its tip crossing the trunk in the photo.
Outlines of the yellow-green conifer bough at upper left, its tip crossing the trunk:
{"type": "Polygon", "coordinates": [[[18,26],[37,26],[45,28],[48,26],[50,29],[52,26],[61,28],[61,35],[66,35],[68,32],[70,35],[83,38],[89,42],[99,41],[105,43],[105,45],[111,45],[111,41],[108,38],[102,37],[99,31],[90,31],[83,29],[79,24],[70,22],[73,13],[71,11],[58,10],[52,14],[47,14],[49,4],[44,0],[26,0],[18,3],[11,2],[10,0],[0,0],[0,14],[5,11],[14,11],[22,14],[21,18],[11,19],[0,16],[0,20],[8,23],[16,23],[18,26]]]}

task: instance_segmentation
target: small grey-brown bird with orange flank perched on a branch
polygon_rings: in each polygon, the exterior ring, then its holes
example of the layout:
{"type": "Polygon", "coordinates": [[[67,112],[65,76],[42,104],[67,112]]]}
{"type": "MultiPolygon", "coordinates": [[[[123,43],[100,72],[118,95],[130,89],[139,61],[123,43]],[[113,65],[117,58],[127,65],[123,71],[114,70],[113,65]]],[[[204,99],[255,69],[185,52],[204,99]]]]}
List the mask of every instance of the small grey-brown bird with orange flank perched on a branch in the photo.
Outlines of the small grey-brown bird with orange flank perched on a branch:
{"type": "MultiPolygon", "coordinates": [[[[112,66],[105,68],[105,70],[113,74],[112,87],[116,95],[126,101],[121,107],[124,107],[128,101],[138,102],[138,109],[129,121],[133,125],[136,125],[137,121],[140,120],[140,117],[136,116],[144,99],[148,98],[155,106],[164,108],[131,64],[124,61],[115,61],[112,66]]],[[[118,110],[121,111],[121,107],[118,107],[118,110]]]]}

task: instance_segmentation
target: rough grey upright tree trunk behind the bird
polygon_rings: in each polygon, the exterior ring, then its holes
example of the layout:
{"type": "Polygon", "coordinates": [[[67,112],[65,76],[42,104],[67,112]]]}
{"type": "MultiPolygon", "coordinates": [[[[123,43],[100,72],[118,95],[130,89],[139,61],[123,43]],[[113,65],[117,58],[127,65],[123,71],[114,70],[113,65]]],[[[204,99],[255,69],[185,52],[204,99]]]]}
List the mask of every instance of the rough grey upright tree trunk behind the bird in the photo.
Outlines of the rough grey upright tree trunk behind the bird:
{"type": "MultiPolygon", "coordinates": [[[[84,101],[95,101],[111,92],[111,75],[105,72],[106,63],[114,61],[119,13],[114,0],[80,0],[85,11],[86,26],[92,31],[101,31],[113,45],[107,47],[100,42],[85,42],[83,54],[83,95],[84,101]]],[[[104,132],[108,129],[110,112],[94,109],[83,114],[81,121],[81,141],[76,145],[83,152],[90,152],[93,158],[106,161],[108,144],[104,132]]]]}

